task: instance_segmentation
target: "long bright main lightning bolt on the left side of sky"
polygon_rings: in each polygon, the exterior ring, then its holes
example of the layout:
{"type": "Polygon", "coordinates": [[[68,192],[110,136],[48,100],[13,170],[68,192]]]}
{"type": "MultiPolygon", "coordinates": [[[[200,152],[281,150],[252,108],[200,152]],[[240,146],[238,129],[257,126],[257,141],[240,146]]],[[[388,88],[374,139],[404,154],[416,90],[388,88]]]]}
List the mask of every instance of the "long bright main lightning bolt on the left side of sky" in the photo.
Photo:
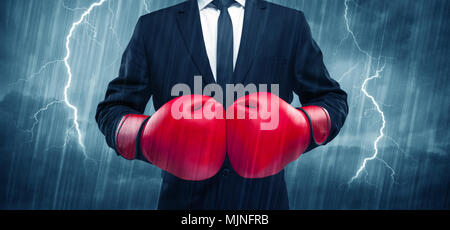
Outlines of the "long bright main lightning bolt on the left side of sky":
{"type": "Polygon", "coordinates": [[[103,5],[103,3],[105,3],[106,1],[107,0],[99,0],[95,3],[93,3],[92,5],[90,5],[89,8],[86,11],[84,11],[84,13],[81,15],[80,19],[72,24],[72,27],[70,28],[69,33],[66,37],[66,56],[64,58],[64,65],[66,66],[66,69],[67,69],[68,78],[67,78],[67,83],[64,87],[64,102],[65,102],[66,106],[69,107],[73,111],[73,128],[77,132],[78,144],[80,145],[85,156],[86,156],[86,147],[83,143],[83,135],[80,130],[80,124],[78,123],[78,108],[70,102],[69,96],[68,96],[69,89],[72,85],[72,69],[69,64],[69,59],[71,56],[70,41],[71,41],[74,31],[77,29],[77,27],[81,23],[83,23],[85,18],[92,12],[92,10],[96,7],[103,5]]]}

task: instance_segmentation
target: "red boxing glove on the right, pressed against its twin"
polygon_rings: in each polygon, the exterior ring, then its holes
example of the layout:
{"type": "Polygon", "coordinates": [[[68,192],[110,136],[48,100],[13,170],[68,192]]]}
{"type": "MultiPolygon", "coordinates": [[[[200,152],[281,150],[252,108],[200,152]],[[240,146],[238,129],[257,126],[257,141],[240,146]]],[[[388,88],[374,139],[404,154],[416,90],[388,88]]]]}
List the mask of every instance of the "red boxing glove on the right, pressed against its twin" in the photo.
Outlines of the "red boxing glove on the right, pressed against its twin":
{"type": "Polygon", "coordinates": [[[272,176],[298,159],[312,136],[323,144],[330,127],[322,107],[298,110],[271,93],[250,94],[227,109],[228,156],[242,177],[272,176]]]}

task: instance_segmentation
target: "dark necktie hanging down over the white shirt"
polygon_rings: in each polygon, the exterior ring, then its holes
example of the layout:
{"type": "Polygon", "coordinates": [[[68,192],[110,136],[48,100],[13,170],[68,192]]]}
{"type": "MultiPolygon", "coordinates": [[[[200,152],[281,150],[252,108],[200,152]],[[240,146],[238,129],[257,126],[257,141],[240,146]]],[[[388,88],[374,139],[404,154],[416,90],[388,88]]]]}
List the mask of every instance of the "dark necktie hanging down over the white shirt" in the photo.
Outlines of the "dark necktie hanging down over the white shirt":
{"type": "Polygon", "coordinates": [[[217,83],[226,93],[226,84],[233,81],[233,24],[228,7],[234,0],[214,0],[212,2],[220,10],[217,27],[217,83]]]}

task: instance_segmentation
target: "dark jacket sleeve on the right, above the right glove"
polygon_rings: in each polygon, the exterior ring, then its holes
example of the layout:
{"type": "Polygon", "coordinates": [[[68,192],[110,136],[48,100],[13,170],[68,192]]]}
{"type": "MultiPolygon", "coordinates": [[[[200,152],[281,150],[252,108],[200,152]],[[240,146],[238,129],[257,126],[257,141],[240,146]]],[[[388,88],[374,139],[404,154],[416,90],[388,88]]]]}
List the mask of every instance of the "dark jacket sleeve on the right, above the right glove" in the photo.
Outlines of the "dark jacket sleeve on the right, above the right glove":
{"type": "MultiPolygon", "coordinates": [[[[348,114],[347,93],[330,77],[323,62],[322,51],[312,38],[311,29],[301,12],[297,25],[299,36],[295,53],[294,92],[299,96],[302,106],[315,105],[328,111],[331,129],[323,143],[327,144],[344,125],[348,114]]],[[[311,143],[306,151],[317,146],[311,143]]]]}

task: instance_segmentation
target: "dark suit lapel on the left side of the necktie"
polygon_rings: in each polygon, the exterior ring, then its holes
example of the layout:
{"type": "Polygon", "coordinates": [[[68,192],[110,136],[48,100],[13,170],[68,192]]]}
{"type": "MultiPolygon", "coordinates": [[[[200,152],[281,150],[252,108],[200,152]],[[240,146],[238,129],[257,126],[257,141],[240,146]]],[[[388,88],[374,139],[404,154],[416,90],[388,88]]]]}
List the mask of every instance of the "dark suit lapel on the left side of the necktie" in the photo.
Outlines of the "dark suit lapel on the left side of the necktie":
{"type": "Polygon", "coordinates": [[[214,83],[214,76],[206,53],[205,42],[200,22],[200,13],[196,0],[190,0],[177,12],[178,28],[192,60],[203,76],[205,84],[214,83]]]}

